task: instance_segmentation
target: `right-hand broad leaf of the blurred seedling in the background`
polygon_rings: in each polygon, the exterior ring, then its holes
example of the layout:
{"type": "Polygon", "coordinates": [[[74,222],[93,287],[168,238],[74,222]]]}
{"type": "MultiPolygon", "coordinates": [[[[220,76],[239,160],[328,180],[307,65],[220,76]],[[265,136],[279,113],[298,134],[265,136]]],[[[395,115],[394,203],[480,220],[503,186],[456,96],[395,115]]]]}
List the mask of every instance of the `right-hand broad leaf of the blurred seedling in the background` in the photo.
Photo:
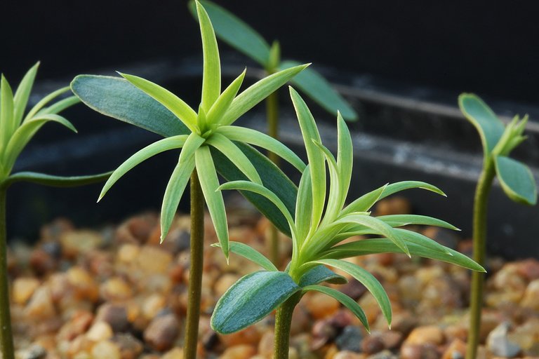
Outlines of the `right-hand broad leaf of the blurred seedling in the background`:
{"type": "MultiPolygon", "coordinates": [[[[288,69],[297,65],[300,65],[299,62],[284,61],[281,62],[279,69],[288,69]]],[[[305,69],[301,74],[295,76],[292,83],[329,113],[336,116],[337,111],[340,111],[342,117],[348,121],[357,121],[356,111],[339,95],[331,83],[314,69],[305,69]]]]}

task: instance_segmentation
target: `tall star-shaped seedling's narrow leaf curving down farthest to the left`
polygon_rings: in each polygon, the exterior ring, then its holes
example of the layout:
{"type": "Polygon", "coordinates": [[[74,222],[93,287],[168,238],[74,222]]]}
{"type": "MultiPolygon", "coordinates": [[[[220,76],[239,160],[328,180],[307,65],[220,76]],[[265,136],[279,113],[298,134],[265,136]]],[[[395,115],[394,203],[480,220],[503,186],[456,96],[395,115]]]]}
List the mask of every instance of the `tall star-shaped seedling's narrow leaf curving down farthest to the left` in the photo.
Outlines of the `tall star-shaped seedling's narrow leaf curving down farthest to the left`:
{"type": "Polygon", "coordinates": [[[187,140],[187,135],[178,135],[173,137],[164,138],[150,144],[149,146],[141,149],[140,151],[135,152],[133,156],[129,157],[124,163],[119,165],[119,167],[112,172],[112,175],[109,177],[105,186],[101,190],[98,201],[105,196],[107,191],[112,187],[118,179],[124,176],[128,171],[138,165],[142,161],[146,161],[148,158],[160,154],[161,152],[168,151],[171,149],[179,149],[185,144],[187,140]]]}

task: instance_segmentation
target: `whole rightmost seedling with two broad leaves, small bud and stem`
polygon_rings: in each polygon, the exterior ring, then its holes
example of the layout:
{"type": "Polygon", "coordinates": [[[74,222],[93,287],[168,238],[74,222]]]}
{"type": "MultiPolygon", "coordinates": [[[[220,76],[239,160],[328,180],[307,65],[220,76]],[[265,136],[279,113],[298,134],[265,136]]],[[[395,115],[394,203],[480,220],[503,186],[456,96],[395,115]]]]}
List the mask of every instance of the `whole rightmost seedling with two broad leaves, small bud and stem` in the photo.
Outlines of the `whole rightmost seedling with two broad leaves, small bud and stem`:
{"type": "MultiPolygon", "coordinates": [[[[477,95],[463,93],[458,97],[458,105],[468,121],[477,128],[483,144],[483,169],[474,198],[473,243],[474,260],[484,265],[487,202],[494,177],[498,177],[503,191],[512,201],[526,205],[535,205],[537,201],[535,179],[530,170],[524,163],[509,157],[511,151],[526,139],[522,134],[526,128],[528,115],[521,119],[514,116],[513,120],[504,126],[492,109],[477,95]]],[[[479,345],[483,283],[484,275],[473,273],[467,359],[475,358],[479,345]]]]}

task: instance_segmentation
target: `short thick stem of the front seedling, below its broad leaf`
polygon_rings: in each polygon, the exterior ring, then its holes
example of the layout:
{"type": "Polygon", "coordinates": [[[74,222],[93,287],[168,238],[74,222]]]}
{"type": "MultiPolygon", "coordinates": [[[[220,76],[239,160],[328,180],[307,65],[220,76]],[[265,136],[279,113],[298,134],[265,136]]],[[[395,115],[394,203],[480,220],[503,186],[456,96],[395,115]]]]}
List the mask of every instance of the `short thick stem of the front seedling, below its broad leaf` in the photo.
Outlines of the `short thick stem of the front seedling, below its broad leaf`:
{"type": "Polygon", "coordinates": [[[286,299],[286,302],[281,304],[279,309],[277,309],[277,313],[275,314],[274,359],[288,359],[292,314],[300,299],[301,292],[297,292],[292,297],[286,299]]]}

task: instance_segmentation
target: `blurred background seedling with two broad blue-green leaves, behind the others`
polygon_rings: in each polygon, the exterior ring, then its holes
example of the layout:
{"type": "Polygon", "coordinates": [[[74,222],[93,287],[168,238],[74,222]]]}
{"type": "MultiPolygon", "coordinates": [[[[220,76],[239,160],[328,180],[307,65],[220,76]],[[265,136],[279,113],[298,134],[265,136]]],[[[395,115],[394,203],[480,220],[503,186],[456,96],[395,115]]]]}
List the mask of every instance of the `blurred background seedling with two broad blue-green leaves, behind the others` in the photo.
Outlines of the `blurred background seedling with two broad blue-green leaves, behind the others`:
{"type": "MultiPolygon", "coordinates": [[[[299,62],[291,60],[281,60],[281,48],[279,41],[274,41],[272,46],[252,27],[247,25],[236,15],[230,13],[225,8],[214,4],[211,1],[201,1],[208,11],[208,15],[213,22],[217,36],[232,46],[240,53],[244,53],[251,59],[258,62],[267,74],[288,69],[289,67],[300,65],[299,62]]],[[[189,8],[193,15],[197,14],[194,1],[189,2],[189,8]]],[[[331,84],[324,79],[319,72],[312,68],[305,69],[301,74],[291,79],[291,83],[297,86],[309,96],[314,102],[317,102],[322,108],[335,115],[339,109],[345,120],[356,121],[357,113],[346,102],[337,91],[331,87],[331,84]]],[[[272,93],[266,99],[266,118],[268,135],[279,139],[279,95],[272,93]]],[[[279,163],[279,158],[274,154],[268,154],[274,163],[279,163]]],[[[277,241],[277,229],[272,227],[270,232],[270,248],[272,262],[279,262],[279,242],[277,241]]]]}

